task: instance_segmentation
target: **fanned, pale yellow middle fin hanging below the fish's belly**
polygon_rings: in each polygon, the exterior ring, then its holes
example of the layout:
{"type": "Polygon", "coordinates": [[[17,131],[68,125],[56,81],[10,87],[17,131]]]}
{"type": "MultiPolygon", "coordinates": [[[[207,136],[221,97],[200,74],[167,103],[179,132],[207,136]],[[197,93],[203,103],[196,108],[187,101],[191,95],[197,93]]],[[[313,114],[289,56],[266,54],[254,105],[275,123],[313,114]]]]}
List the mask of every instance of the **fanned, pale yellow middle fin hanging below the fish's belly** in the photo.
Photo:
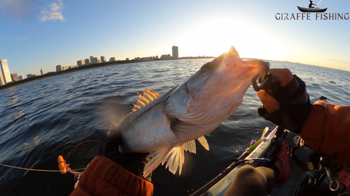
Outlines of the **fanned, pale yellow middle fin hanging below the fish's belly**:
{"type": "Polygon", "coordinates": [[[179,175],[181,174],[182,165],[185,162],[183,146],[184,145],[175,146],[171,151],[169,151],[167,156],[165,156],[162,160],[162,165],[164,165],[165,162],[167,162],[167,165],[165,165],[165,169],[169,167],[169,171],[172,172],[173,174],[176,173],[178,167],[179,167],[179,175]]]}

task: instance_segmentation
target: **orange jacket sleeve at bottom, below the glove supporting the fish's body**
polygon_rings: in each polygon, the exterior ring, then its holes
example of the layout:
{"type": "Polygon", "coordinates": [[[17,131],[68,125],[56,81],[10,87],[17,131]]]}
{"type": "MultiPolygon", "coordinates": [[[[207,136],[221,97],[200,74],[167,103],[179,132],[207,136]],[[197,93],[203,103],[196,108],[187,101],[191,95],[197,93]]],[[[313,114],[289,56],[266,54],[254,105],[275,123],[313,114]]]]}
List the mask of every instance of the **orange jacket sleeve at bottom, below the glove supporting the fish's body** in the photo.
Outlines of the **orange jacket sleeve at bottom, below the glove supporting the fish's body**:
{"type": "Polygon", "coordinates": [[[78,186],[71,196],[76,195],[153,195],[153,184],[135,176],[109,158],[97,156],[87,166],[78,186]]]}

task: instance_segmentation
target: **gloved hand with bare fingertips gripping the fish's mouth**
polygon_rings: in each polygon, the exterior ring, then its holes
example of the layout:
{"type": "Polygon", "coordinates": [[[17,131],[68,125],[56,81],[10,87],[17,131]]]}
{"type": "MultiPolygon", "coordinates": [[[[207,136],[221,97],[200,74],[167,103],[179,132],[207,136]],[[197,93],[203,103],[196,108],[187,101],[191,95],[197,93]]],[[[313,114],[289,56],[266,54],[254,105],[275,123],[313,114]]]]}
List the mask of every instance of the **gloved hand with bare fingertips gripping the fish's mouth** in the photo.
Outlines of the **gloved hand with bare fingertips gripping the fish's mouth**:
{"type": "Polygon", "coordinates": [[[279,91],[274,93],[274,97],[258,91],[257,96],[262,103],[258,114],[282,128],[300,133],[311,110],[305,83],[286,68],[270,69],[269,72],[279,79],[279,91]]]}

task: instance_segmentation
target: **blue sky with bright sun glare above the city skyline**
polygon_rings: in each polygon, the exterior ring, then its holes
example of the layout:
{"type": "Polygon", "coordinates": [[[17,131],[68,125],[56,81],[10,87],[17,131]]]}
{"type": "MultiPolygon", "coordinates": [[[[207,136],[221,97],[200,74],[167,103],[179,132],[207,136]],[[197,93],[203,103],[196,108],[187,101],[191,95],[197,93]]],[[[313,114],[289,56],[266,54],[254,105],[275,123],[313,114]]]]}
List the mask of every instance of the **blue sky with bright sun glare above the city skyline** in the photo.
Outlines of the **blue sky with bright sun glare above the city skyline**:
{"type": "Polygon", "coordinates": [[[90,56],[161,56],[173,45],[180,57],[219,56],[233,45],[243,58],[350,71],[350,1],[318,3],[343,20],[302,19],[297,6],[309,0],[0,0],[0,59],[39,75],[90,56]]]}

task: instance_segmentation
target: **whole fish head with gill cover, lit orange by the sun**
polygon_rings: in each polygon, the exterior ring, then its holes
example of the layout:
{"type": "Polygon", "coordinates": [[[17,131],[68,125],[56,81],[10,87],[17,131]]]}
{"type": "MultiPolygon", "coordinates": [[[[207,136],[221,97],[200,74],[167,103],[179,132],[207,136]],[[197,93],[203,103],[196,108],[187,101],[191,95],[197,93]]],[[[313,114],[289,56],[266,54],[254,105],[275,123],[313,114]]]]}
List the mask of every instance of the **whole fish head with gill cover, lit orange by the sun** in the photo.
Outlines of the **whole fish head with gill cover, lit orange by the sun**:
{"type": "Polygon", "coordinates": [[[244,61],[231,47],[175,89],[167,111],[186,123],[214,129],[241,105],[253,77],[268,70],[266,61],[244,61]]]}

